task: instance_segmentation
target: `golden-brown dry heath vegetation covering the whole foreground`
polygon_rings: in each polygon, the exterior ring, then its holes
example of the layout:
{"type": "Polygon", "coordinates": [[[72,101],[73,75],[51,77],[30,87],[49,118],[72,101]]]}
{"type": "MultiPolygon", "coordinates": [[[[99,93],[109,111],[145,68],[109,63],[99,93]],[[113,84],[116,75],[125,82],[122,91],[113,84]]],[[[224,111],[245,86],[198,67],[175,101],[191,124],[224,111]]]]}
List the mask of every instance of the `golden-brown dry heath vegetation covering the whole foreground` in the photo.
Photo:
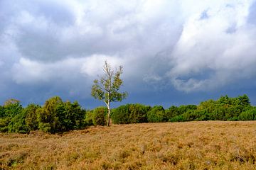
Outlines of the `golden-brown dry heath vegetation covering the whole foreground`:
{"type": "Polygon", "coordinates": [[[256,169],[256,121],[0,134],[0,169],[256,169]]]}

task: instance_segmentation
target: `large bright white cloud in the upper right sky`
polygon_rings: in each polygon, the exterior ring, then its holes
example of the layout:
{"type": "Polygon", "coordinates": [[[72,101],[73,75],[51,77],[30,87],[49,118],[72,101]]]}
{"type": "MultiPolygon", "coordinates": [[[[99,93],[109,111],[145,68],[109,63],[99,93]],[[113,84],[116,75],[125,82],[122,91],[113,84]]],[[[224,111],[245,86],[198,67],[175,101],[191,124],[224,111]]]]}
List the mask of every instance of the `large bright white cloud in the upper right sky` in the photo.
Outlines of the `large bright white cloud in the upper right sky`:
{"type": "Polygon", "coordinates": [[[186,19],[168,74],[176,89],[205,91],[256,76],[249,71],[256,64],[256,29],[246,23],[250,2],[226,3],[204,6],[208,18],[191,13],[186,19]]]}

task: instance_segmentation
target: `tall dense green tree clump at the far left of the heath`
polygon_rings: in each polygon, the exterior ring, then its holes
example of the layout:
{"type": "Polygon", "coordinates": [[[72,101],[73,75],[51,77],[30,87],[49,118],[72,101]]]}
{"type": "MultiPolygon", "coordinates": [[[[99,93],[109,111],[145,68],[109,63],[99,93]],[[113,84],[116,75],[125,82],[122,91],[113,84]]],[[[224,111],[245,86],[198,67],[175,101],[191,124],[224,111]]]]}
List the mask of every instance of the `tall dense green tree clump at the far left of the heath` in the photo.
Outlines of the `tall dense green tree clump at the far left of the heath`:
{"type": "Polygon", "coordinates": [[[55,133],[80,129],[84,126],[85,113],[78,102],[63,102],[58,96],[48,99],[43,107],[30,104],[23,108],[19,101],[11,99],[0,106],[0,131],[55,133]]]}

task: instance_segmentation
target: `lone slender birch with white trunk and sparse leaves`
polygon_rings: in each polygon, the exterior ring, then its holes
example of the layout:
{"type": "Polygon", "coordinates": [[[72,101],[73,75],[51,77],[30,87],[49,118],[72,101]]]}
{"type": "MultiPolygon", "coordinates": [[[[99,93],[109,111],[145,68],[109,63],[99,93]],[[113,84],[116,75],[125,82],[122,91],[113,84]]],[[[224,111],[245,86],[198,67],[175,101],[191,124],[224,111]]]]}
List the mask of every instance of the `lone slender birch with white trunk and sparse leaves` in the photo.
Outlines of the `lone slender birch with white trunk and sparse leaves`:
{"type": "Polygon", "coordinates": [[[100,80],[95,79],[91,94],[94,98],[104,101],[107,105],[107,126],[110,126],[110,103],[122,101],[122,99],[126,98],[127,92],[118,92],[123,83],[122,79],[120,79],[122,66],[119,66],[119,69],[114,72],[110,64],[105,61],[103,71],[104,75],[100,77],[100,80]]]}

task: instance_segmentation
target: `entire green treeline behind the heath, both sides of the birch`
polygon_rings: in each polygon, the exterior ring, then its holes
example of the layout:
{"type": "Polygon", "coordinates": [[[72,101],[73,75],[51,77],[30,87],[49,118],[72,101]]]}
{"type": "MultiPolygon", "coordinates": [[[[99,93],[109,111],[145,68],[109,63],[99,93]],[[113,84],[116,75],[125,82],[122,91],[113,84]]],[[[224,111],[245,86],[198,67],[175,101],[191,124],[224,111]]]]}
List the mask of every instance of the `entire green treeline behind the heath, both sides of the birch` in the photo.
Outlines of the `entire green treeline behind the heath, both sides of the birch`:
{"type": "MultiPolygon", "coordinates": [[[[21,103],[11,99],[0,106],[0,132],[28,133],[65,132],[78,130],[89,125],[106,125],[107,108],[85,110],[78,102],[63,102],[55,96],[43,106],[30,104],[23,108],[21,103]]],[[[218,100],[201,102],[198,106],[144,106],[126,104],[112,109],[114,124],[183,122],[192,120],[256,120],[256,107],[250,105],[248,96],[230,98],[221,96],[218,100]]]]}

